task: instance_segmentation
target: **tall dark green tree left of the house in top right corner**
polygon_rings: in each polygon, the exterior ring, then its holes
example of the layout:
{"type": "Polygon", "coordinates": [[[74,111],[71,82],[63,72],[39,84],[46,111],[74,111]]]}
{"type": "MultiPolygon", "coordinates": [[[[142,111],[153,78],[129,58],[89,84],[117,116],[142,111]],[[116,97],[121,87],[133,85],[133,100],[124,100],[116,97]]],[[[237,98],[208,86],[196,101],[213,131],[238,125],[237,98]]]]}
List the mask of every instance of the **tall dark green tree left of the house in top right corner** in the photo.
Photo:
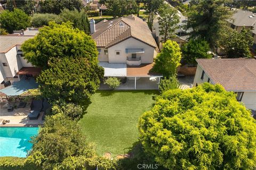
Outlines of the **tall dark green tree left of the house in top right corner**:
{"type": "Polygon", "coordinates": [[[188,12],[187,28],[192,28],[191,38],[205,39],[211,47],[217,45],[221,38],[226,20],[231,17],[231,11],[224,4],[228,0],[198,0],[191,5],[188,12]]]}

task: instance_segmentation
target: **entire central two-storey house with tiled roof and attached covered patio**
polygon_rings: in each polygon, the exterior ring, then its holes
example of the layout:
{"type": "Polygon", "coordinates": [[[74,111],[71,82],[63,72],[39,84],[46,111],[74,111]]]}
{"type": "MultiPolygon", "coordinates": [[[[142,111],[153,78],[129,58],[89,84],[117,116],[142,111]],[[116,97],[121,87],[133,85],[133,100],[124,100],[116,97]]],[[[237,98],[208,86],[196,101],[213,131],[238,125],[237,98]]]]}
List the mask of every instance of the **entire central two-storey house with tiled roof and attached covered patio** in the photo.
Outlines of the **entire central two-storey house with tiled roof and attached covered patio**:
{"type": "Polygon", "coordinates": [[[105,77],[127,78],[128,83],[133,81],[132,89],[143,89],[149,80],[157,79],[154,89],[158,88],[162,75],[150,72],[158,48],[146,22],[128,15],[97,24],[92,19],[90,27],[105,77]]]}

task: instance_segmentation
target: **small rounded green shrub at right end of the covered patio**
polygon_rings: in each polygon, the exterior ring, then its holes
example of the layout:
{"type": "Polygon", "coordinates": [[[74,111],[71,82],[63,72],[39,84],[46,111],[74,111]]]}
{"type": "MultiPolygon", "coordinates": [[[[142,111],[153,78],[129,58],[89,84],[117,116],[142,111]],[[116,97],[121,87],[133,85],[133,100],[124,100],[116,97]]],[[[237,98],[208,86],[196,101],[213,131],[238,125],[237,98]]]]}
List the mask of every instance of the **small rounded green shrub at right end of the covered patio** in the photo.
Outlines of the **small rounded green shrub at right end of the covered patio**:
{"type": "Polygon", "coordinates": [[[159,91],[161,94],[166,90],[178,89],[178,88],[179,88],[179,81],[175,76],[170,77],[169,79],[164,78],[161,80],[159,84],[159,91]]]}

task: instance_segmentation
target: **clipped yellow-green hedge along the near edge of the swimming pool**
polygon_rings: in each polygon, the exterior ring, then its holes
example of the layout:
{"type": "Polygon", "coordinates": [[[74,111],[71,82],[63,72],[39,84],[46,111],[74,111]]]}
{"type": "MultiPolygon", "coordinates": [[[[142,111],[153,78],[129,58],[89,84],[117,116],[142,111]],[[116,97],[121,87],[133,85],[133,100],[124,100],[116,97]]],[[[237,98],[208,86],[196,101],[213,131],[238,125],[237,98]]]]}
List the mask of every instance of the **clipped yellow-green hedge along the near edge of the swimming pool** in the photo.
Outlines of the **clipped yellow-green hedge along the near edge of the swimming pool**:
{"type": "Polygon", "coordinates": [[[0,157],[1,170],[41,170],[41,167],[35,164],[28,164],[25,162],[26,158],[19,157],[0,157]]]}

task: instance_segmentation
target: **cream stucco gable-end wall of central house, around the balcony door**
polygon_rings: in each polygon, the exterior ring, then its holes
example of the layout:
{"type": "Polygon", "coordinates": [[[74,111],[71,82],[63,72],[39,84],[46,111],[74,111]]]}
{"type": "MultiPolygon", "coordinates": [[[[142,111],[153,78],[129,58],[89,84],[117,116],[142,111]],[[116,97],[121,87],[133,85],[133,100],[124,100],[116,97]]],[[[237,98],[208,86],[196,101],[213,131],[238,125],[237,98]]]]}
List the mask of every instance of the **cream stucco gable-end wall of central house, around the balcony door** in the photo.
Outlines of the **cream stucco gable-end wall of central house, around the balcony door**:
{"type": "Polygon", "coordinates": [[[126,54],[125,48],[143,48],[145,53],[137,54],[138,57],[141,57],[141,63],[153,63],[154,56],[157,54],[154,47],[142,43],[137,39],[129,38],[108,48],[109,63],[126,63],[126,57],[132,54],[126,54]],[[120,51],[121,54],[116,55],[116,50],[120,51]]]}

